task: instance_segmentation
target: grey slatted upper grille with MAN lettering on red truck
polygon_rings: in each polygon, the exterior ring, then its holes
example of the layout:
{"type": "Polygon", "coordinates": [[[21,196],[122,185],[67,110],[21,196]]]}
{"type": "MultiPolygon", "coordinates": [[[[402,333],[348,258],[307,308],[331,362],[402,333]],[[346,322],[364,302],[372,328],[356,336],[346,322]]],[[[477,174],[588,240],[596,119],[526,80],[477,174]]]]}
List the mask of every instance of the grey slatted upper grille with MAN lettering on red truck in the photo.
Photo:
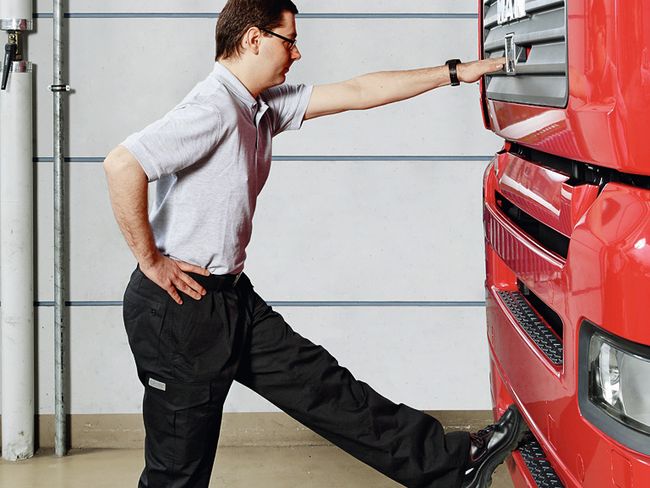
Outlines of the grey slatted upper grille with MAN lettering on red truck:
{"type": "MultiPolygon", "coordinates": [[[[486,76],[491,100],[565,107],[568,99],[566,0],[525,0],[526,16],[498,23],[499,0],[483,0],[483,55],[505,56],[512,35],[515,73],[486,76]]],[[[506,2],[507,3],[507,2],[506,2]]]]}

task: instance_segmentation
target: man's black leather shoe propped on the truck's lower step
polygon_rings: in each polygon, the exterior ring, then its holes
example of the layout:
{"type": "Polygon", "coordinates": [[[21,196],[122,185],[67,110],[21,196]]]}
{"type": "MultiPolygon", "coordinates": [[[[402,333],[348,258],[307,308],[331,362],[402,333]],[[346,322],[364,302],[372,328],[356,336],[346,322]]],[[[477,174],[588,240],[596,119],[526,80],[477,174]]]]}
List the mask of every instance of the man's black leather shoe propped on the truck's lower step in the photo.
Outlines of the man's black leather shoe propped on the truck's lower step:
{"type": "Polygon", "coordinates": [[[470,434],[469,461],[462,488],[487,488],[492,473],[517,448],[528,427],[519,410],[510,405],[496,424],[470,434]]]}

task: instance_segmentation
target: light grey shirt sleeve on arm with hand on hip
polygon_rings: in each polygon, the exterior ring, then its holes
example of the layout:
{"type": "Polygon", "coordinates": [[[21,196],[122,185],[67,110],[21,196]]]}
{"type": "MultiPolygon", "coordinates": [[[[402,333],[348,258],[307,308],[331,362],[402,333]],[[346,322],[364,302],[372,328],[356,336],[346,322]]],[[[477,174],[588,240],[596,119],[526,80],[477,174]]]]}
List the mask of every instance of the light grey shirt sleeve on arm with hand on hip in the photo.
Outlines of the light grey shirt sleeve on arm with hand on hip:
{"type": "Polygon", "coordinates": [[[182,104],[121,143],[149,181],[176,173],[210,154],[219,142],[221,117],[211,106],[182,104]]]}

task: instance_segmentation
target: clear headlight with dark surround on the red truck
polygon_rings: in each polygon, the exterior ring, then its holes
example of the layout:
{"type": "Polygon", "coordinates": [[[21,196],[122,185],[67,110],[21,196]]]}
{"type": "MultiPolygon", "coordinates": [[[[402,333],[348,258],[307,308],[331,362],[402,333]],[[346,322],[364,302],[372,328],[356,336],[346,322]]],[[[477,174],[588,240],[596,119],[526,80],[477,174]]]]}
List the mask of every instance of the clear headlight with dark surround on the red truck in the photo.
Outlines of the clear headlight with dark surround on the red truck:
{"type": "Polygon", "coordinates": [[[623,444],[650,450],[650,347],[584,322],[580,355],[584,416],[623,444]]]}

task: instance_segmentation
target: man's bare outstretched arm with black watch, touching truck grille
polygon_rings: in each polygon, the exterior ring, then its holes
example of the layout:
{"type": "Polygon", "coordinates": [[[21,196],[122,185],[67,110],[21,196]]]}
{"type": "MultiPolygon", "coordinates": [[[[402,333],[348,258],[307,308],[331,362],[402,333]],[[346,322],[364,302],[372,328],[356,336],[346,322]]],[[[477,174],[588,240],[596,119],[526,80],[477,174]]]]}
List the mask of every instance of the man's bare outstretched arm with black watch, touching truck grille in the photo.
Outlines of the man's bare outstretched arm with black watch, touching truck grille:
{"type": "MultiPolygon", "coordinates": [[[[487,73],[499,71],[504,62],[505,58],[494,58],[459,64],[458,79],[474,83],[487,73]]],[[[399,102],[449,83],[449,68],[445,65],[408,71],[382,71],[339,83],[316,85],[305,120],[399,102]]]]}

